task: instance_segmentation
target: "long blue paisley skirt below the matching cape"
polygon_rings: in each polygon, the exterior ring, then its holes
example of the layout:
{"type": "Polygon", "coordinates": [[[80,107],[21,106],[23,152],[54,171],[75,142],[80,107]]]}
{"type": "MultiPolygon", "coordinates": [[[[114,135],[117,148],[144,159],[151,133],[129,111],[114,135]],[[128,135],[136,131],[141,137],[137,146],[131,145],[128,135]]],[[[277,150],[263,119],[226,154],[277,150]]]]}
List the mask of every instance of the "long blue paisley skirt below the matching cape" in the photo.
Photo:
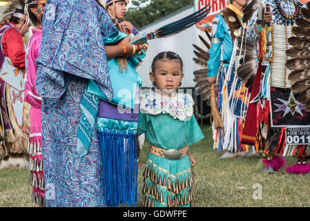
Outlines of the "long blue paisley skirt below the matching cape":
{"type": "Polygon", "coordinates": [[[61,99],[42,99],[46,206],[105,206],[97,128],[93,130],[88,154],[77,154],[79,102],[87,83],[86,79],[68,75],[66,93],[61,99]]]}

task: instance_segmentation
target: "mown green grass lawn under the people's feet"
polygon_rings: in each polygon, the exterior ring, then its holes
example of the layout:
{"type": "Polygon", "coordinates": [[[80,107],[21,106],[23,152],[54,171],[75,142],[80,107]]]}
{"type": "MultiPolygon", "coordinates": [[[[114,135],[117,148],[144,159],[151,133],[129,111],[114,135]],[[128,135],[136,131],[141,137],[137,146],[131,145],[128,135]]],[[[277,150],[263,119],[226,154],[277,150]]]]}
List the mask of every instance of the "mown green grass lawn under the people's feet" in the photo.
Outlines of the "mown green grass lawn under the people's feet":
{"type": "MultiPolygon", "coordinates": [[[[205,138],[191,147],[194,167],[195,203],[209,206],[310,206],[310,175],[291,175],[282,170],[274,174],[256,171],[258,157],[219,159],[222,153],[212,149],[211,127],[202,128],[205,138]],[[260,191],[261,190],[261,191],[260,191]],[[261,194],[260,194],[261,193],[261,194]]],[[[147,144],[139,162],[146,162],[147,144]]],[[[288,165],[294,163],[286,157],[288,165]]],[[[142,173],[139,168],[138,205],[142,202],[142,173]]],[[[0,207],[35,206],[31,202],[29,173],[26,169],[0,171],[0,207]]]]}

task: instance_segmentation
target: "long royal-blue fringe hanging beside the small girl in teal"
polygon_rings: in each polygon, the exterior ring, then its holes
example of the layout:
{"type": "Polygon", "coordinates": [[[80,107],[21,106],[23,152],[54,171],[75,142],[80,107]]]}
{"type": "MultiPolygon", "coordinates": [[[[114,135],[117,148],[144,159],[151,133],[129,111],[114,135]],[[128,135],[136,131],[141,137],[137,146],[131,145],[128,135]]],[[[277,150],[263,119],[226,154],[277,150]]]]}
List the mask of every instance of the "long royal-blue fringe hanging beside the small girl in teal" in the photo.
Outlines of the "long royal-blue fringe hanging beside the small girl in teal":
{"type": "Polygon", "coordinates": [[[98,132],[108,206],[137,206],[137,131],[98,132]]]}

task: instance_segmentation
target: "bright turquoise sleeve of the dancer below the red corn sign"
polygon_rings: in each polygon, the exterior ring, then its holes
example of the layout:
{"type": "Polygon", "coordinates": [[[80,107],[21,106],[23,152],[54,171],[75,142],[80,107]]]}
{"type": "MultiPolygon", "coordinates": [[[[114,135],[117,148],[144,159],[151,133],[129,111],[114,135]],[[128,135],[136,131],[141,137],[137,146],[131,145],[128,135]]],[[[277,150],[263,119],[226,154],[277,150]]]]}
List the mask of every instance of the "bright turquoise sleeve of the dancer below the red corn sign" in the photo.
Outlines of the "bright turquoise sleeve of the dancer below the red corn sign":
{"type": "Polygon", "coordinates": [[[221,46],[224,40],[224,19],[221,15],[217,15],[212,21],[212,44],[209,50],[210,58],[208,60],[208,77],[216,77],[218,68],[221,63],[221,46]]]}

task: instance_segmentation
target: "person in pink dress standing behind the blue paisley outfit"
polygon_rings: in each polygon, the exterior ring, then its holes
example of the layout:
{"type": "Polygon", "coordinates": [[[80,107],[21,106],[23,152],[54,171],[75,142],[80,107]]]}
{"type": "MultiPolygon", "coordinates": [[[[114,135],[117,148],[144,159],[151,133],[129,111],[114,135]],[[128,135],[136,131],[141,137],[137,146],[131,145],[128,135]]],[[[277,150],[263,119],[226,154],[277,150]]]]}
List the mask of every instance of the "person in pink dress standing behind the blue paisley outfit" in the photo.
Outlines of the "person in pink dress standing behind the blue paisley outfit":
{"type": "Polygon", "coordinates": [[[30,185],[33,188],[32,202],[45,206],[44,200],[44,176],[43,176],[43,161],[41,149],[41,97],[39,97],[35,89],[35,81],[37,78],[37,66],[35,59],[39,57],[42,28],[41,17],[46,1],[28,1],[26,3],[26,11],[28,19],[35,26],[32,29],[32,37],[29,41],[27,54],[27,77],[25,85],[25,102],[31,105],[30,108],[30,138],[29,138],[29,170],[31,173],[30,185]],[[37,8],[41,7],[38,12],[37,8]]]}

